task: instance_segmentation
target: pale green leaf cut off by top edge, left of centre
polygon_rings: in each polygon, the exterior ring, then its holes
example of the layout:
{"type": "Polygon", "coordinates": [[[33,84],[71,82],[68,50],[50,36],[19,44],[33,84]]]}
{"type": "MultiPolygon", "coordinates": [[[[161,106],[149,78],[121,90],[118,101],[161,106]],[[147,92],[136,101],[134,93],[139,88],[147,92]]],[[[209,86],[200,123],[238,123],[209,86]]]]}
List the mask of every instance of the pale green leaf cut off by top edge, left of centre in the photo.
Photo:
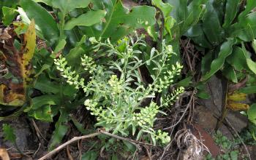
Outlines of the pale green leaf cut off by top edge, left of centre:
{"type": "MultiPolygon", "coordinates": [[[[86,8],[88,7],[91,0],[52,0],[52,7],[61,9],[61,12],[67,14],[75,8],[86,8]]],[[[45,1],[46,2],[46,1],[45,1]]]]}

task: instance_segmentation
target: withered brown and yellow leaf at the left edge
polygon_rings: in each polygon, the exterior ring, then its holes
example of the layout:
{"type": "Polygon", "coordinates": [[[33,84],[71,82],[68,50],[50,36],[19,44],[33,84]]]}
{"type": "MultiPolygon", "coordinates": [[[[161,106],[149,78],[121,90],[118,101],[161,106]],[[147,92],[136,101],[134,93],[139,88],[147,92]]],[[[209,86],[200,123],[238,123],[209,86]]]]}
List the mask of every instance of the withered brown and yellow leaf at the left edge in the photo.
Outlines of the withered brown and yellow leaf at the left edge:
{"type": "Polygon", "coordinates": [[[31,20],[26,33],[23,34],[22,47],[19,51],[14,46],[15,33],[13,28],[8,33],[11,38],[0,41],[0,51],[4,55],[1,56],[1,59],[13,77],[1,80],[0,104],[20,106],[26,102],[26,86],[32,71],[30,62],[36,48],[34,20],[31,20]],[[9,44],[9,46],[6,47],[4,44],[9,44]],[[18,79],[18,81],[13,81],[13,78],[18,79]]]}

